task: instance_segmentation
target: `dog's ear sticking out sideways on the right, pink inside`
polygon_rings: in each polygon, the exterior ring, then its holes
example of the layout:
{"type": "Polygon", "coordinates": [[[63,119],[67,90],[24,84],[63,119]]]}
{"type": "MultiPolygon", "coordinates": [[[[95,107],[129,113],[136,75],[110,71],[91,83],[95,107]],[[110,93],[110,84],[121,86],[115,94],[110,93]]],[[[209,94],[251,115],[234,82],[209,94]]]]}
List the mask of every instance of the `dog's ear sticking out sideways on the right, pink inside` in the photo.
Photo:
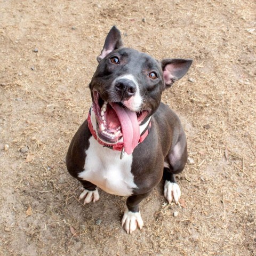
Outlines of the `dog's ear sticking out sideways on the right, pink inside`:
{"type": "Polygon", "coordinates": [[[193,60],[190,59],[163,59],[162,70],[164,75],[165,89],[183,77],[193,60]]]}

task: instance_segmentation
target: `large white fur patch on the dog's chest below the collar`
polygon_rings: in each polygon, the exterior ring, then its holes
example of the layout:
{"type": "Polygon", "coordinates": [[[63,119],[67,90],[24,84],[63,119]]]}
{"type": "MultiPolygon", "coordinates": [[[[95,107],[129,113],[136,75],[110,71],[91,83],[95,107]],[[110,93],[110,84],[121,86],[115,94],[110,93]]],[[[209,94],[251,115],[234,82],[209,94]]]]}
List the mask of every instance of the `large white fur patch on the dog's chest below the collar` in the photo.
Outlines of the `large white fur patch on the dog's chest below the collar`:
{"type": "Polygon", "coordinates": [[[103,147],[93,136],[89,142],[84,171],[79,173],[79,178],[92,182],[109,194],[131,195],[137,188],[131,173],[132,155],[125,154],[121,160],[121,151],[103,147]]]}

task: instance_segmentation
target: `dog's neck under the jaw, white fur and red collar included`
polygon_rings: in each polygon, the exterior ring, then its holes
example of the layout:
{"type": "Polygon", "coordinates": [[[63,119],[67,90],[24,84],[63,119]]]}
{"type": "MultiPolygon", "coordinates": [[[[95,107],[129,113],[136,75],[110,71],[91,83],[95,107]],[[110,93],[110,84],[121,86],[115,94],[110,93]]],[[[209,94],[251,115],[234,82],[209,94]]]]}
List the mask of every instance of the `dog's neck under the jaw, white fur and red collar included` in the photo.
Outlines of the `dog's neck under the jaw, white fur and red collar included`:
{"type": "MultiPolygon", "coordinates": [[[[146,139],[146,137],[147,137],[147,135],[150,131],[151,117],[152,116],[150,116],[144,124],[140,125],[140,139],[138,141],[138,144],[146,139]]],[[[124,151],[123,138],[118,140],[116,143],[111,143],[111,144],[109,144],[109,143],[107,143],[107,142],[105,142],[105,141],[103,141],[99,138],[99,136],[97,134],[97,122],[96,122],[96,119],[95,119],[95,114],[93,112],[93,108],[90,108],[90,110],[89,110],[88,117],[87,117],[87,122],[88,122],[88,127],[89,127],[89,130],[90,130],[91,134],[93,135],[94,139],[97,140],[98,143],[100,143],[100,145],[102,145],[104,147],[111,148],[113,150],[122,151],[122,153],[123,153],[123,151],[124,151]]]]}

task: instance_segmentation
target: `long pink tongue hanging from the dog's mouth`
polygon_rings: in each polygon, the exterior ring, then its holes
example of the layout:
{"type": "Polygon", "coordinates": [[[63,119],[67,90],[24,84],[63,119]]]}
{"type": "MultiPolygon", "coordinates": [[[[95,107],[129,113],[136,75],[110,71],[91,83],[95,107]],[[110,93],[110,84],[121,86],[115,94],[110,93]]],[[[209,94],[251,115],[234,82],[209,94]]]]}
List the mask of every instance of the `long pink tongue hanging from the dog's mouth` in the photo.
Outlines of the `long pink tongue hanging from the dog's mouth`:
{"type": "Polygon", "coordinates": [[[134,148],[138,145],[140,139],[140,127],[136,113],[127,108],[122,108],[116,103],[111,103],[111,106],[116,111],[122,127],[124,150],[130,155],[134,148]]]}

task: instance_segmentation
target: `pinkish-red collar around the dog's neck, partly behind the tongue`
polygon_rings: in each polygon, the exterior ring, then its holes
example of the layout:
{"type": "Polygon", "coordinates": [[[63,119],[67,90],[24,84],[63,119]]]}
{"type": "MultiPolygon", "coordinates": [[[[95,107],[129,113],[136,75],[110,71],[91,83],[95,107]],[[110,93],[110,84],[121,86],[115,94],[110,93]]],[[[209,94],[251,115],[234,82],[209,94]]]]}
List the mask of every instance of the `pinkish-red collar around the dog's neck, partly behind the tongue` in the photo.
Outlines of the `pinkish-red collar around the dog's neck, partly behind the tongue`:
{"type": "MultiPolygon", "coordinates": [[[[91,113],[91,109],[89,110],[89,113],[88,113],[87,122],[88,122],[89,130],[90,130],[91,134],[93,135],[94,139],[97,140],[100,143],[100,145],[102,145],[104,147],[108,147],[113,150],[123,151],[123,148],[124,148],[123,142],[117,142],[116,144],[108,144],[108,143],[105,143],[100,140],[100,138],[97,136],[97,133],[93,129],[90,113],[91,113]]],[[[151,127],[151,121],[149,122],[147,129],[140,134],[140,139],[138,141],[138,144],[146,139],[146,137],[149,133],[150,127],[151,127]]]]}

